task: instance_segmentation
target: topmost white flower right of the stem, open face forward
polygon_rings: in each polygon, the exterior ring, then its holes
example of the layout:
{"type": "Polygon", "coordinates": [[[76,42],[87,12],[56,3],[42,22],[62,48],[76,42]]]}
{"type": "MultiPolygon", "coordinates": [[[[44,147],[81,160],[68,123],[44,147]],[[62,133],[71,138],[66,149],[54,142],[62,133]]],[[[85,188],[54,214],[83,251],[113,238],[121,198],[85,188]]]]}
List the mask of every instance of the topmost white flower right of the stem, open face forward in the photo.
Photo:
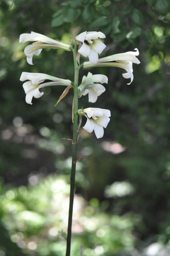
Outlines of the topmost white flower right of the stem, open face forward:
{"type": "Polygon", "coordinates": [[[106,36],[102,32],[96,31],[85,31],[76,36],[76,40],[83,43],[78,52],[84,57],[88,56],[92,64],[98,61],[98,54],[101,54],[106,47],[98,38],[106,38],[106,36]]]}

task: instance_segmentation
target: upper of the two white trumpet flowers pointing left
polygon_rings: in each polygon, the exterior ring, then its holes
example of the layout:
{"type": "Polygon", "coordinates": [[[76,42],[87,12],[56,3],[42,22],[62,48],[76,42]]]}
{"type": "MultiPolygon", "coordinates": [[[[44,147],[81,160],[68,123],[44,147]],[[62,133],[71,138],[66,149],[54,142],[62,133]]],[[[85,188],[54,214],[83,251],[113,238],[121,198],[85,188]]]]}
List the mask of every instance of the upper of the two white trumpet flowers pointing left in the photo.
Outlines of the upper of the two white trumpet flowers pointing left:
{"type": "Polygon", "coordinates": [[[25,33],[20,35],[20,41],[19,41],[20,43],[25,43],[28,41],[30,42],[35,41],[35,43],[26,46],[26,48],[24,49],[24,53],[27,56],[26,60],[31,65],[33,65],[32,63],[33,55],[38,56],[43,48],[61,49],[66,51],[71,50],[70,49],[71,46],[69,44],[64,44],[62,42],[51,39],[48,36],[44,36],[36,32],[31,32],[30,34],[25,33]]]}

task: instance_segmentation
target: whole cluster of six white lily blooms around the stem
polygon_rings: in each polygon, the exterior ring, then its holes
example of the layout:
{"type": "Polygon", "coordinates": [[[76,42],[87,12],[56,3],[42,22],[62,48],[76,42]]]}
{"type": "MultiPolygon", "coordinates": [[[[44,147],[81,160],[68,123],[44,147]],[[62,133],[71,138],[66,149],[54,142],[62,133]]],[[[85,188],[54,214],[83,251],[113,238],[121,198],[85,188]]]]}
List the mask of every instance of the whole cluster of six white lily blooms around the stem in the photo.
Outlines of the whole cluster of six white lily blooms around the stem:
{"type": "MultiPolygon", "coordinates": [[[[102,51],[106,48],[106,45],[102,42],[105,37],[106,36],[102,32],[96,31],[85,31],[76,36],[76,42],[80,46],[78,53],[84,57],[89,58],[89,61],[84,62],[81,66],[84,68],[98,66],[123,68],[126,70],[126,73],[123,73],[122,75],[126,79],[130,78],[130,82],[128,84],[131,84],[134,79],[132,64],[140,63],[136,57],[139,55],[138,49],[135,48],[135,52],[125,52],[104,58],[98,58],[98,54],[101,54],[102,51]]],[[[72,46],[69,44],[64,44],[58,40],[51,39],[47,36],[35,32],[20,35],[20,43],[25,43],[28,41],[33,43],[26,46],[24,53],[27,57],[28,64],[31,65],[33,65],[32,57],[34,55],[38,56],[43,48],[60,49],[66,51],[72,50],[72,46]]],[[[23,84],[23,88],[26,93],[26,102],[28,104],[32,104],[33,97],[40,98],[44,94],[43,92],[39,91],[40,88],[46,86],[61,85],[67,86],[69,90],[70,86],[73,87],[71,80],[57,78],[55,76],[42,73],[22,72],[20,80],[28,80],[23,84]]],[[[78,86],[78,97],[80,98],[88,94],[88,101],[94,103],[96,102],[98,96],[100,96],[106,90],[102,84],[107,83],[107,76],[103,74],[93,75],[92,73],[88,72],[87,76],[83,76],[82,82],[78,86]]],[[[66,94],[65,91],[64,95],[66,94]]],[[[103,137],[103,128],[106,128],[108,122],[110,121],[110,110],[101,108],[85,108],[79,109],[78,114],[87,118],[86,124],[83,126],[84,130],[90,133],[94,130],[97,138],[103,137]]]]}

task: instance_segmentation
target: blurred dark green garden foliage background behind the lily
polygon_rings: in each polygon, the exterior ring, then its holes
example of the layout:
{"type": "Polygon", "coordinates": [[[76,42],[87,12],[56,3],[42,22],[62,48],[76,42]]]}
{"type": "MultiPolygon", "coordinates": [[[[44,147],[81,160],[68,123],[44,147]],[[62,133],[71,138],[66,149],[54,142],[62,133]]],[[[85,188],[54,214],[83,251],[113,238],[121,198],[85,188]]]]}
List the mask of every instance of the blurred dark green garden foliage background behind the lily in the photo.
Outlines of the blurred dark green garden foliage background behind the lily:
{"type": "MultiPolygon", "coordinates": [[[[170,255],[170,2],[0,0],[0,256],[64,256],[72,144],[72,91],[43,88],[26,104],[23,71],[73,80],[71,52],[42,50],[27,64],[19,36],[31,31],[68,44],[83,31],[106,34],[100,57],[140,51],[130,86],[108,76],[95,104],[111,110],[104,137],[78,143],[72,256],[170,255]],[[83,244],[83,254],[82,251],[83,244]]],[[[81,62],[87,60],[81,57],[81,62]]],[[[82,121],[82,126],[86,120],[82,121]]]]}

